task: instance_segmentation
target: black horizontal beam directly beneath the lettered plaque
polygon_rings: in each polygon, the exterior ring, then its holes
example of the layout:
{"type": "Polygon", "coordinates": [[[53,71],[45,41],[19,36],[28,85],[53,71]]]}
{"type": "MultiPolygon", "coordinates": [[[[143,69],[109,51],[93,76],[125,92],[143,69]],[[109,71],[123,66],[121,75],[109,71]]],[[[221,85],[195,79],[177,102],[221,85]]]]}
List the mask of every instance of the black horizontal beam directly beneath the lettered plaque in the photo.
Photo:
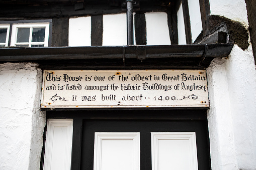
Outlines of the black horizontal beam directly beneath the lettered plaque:
{"type": "Polygon", "coordinates": [[[46,116],[47,119],[207,120],[206,109],[198,108],[86,108],[73,111],[48,110],[46,116]]]}

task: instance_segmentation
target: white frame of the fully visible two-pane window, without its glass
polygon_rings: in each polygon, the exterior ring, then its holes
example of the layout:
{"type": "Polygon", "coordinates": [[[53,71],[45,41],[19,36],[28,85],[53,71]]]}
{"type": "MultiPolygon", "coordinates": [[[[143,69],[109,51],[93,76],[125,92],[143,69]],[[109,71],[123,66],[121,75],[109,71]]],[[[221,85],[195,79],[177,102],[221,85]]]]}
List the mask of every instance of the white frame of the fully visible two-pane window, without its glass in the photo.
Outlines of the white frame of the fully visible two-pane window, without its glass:
{"type": "Polygon", "coordinates": [[[15,47],[16,45],[29,45],[29,47],[31,47],[31,45],[41,45],[41,44],[43,44],[44,47],[48,47],[49,25],[50,25],[50,23],[13,24],[12,36],[11,36],[11,46],[15,47]],[[41,28],[41,27],[45,27],[44,42],[32,42],[32,29],[33,28],[41,28]],[[18,28],[30,28],[30,35],[29,35],[29,42],[28,43],[17,43],[18,28]]]}

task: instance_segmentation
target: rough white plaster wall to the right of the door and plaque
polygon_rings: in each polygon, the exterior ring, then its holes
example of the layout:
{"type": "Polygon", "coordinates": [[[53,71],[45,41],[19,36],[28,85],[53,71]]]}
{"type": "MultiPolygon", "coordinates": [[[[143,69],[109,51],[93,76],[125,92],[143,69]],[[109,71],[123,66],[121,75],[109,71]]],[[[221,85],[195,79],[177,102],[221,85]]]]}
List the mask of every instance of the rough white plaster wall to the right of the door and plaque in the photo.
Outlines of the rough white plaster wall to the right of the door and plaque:
{"type": "Polygon", "coordinates": [[[251,45],[207,68],[212,169],[256,169],[256,71],[251,45]]]}

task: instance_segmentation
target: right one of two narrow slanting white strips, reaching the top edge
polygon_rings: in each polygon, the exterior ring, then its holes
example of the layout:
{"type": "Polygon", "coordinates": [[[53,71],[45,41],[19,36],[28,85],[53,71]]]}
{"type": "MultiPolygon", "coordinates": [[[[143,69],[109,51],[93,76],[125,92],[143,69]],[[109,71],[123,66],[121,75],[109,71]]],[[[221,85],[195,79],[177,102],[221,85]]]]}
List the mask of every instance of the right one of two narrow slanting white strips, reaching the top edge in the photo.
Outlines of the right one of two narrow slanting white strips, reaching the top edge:
{"type": "Polygon", "coordinates": [[[191,25],[192,42],[194,42],[198,35],[203,30],[199,0],[189,0],[189,16],[191,25]]]}

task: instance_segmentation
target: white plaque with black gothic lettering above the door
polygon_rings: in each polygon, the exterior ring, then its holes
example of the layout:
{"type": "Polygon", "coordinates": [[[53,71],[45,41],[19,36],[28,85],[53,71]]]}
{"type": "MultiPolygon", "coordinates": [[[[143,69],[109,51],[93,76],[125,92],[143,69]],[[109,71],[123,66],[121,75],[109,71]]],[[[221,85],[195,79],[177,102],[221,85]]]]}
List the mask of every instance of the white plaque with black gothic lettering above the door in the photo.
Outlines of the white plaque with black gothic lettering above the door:
{"type": "Polygon", "coordinates": [[[209,107],[206,71],[44,70],[41,107],[209,107]]]}

